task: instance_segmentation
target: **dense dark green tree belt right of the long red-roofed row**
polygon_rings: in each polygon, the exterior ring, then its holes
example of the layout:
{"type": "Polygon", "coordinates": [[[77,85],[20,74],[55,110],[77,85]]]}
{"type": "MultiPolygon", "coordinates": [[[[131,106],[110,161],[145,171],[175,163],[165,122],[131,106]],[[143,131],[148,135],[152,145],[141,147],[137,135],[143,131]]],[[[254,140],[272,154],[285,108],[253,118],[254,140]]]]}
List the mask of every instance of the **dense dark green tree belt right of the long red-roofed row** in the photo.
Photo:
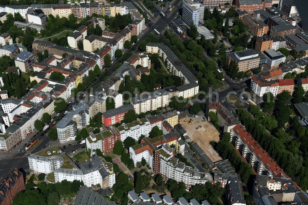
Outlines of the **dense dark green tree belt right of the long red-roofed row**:
{"type": "MultiPolygon", "coordinates": [[[[284,122],[288,122],[290,118],[290,108],[283,104],[288,98],[287,93],[283,92],[278,95],[278,102],[275,103],[276,119],[278,125],[282,127],[284,127],[284,122]]],[[[265,131],[265,125],[256,123],[256,121],[251,118],[248,111],[239,109],[237,113],[241,123],[245,125],[247,131],[251,133],[261,147],[276,160],[278,165],[284,169],[289,176],[294,177],[295,182],[298,183],[302,189],[307,189],[308,160],[306,159],[308,150],[305,143],[308,142],[308,131],[306,127],[299,125],[297,117],[290,120],[290,129],[288,132],[280,128],[275,131],[274,137],[265,131]],[[295,139],[291,141],[289,135],[293,135],[295,139]],[[299,152],[299,149],[302,150],[302,153],[299,152]]]]}

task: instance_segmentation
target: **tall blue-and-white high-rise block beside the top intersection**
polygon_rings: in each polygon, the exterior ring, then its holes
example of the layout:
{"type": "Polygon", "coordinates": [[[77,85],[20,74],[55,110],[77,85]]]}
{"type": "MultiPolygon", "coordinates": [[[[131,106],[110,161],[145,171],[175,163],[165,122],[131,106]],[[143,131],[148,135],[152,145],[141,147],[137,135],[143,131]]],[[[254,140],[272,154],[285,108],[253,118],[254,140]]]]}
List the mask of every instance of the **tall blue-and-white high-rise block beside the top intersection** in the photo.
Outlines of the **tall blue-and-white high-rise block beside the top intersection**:
{"type": "Polygon", "coordinates": [[[190,27],[191,23],[195,26],[199,25],[199,22],[203,22],[204,5],[193,0],[184,0],[183,2],[182,21],[190,27]]]}

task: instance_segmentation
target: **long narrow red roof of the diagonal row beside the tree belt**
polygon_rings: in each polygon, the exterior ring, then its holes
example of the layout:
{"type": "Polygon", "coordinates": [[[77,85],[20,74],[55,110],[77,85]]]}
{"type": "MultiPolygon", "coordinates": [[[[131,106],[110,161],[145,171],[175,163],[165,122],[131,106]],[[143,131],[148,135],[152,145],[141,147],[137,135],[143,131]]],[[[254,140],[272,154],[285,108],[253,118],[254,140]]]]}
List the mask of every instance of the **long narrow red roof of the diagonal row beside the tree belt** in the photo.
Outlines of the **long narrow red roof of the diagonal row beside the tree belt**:
{"type": "Polygon", "coordinates": [[[288,175],[282,170],[282,168],[279,167],[275,160],[272,159],[265,150],[263,150],[263,148],[257,143],[257,141],[252,138],[252,136],[246,130],[244,130],[243,126],[237,124],[235,127],[233,127],[233,131],[241,137],[241,140],[247,144],[249,150],[256,154],[257,159],[262,161],[264,167],[270,170],[274,177],[282,177],[282,175],[284,175],[288,178],[288,175]],[[259,157],[259,155],[261,157],[259,157]]]}

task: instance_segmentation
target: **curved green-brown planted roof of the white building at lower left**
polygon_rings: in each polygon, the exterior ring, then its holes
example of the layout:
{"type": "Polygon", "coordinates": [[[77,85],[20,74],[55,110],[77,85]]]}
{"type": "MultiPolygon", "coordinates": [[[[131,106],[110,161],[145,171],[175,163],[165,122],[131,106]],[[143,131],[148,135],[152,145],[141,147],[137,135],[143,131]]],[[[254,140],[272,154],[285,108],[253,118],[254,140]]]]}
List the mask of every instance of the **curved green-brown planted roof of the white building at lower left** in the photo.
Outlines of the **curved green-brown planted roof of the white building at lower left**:
{"type": "Polygon", "coordinates": [[[63,165],[60,167],[62,169],[77,169],[76,165],[72,162],[72,160],[62,151],[59,147],[51,147],[46,150],[42,150],[39,152],[34,153],[34,155],[42,156],[42,157],[52,157],[52,156],[59,156],[63,159],[63,165]],[[50,151],[50,155],[48,155],[48,151],[50,151]],[[53,152],[55,151],[55,152],[53,152]]]}

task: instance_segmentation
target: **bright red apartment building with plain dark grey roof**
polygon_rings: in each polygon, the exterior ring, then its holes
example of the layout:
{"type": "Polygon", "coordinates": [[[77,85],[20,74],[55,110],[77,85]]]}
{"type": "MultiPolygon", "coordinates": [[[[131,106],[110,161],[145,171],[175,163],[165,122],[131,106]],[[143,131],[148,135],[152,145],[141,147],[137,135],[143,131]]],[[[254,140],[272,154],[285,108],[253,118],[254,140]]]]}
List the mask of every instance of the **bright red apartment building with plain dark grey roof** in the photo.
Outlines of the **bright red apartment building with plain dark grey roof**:
{"type": "Polygon", "coordinates": [[[115,123],[120,123],[123,120],[125,113],[133,109],[134,107],[129,104],[108,110],[102,114],[102,123],[105,126],[111,126],[115,123]]]}

